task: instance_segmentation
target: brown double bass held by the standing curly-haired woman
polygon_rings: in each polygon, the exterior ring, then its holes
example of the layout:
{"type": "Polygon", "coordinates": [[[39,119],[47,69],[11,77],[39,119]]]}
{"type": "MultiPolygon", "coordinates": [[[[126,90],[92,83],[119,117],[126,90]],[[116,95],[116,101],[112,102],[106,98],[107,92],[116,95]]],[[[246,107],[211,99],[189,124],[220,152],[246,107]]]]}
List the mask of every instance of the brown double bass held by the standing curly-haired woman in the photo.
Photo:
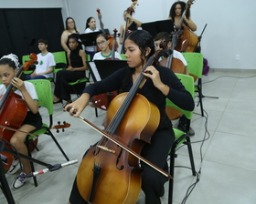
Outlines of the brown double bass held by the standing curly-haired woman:
{"type": "Polygon", "coordinates": [[[181,20],[178,26],[178,31],[180,32],[180,36],[178,38],[177,45],[175,47],[176,51],[179,52],[194,52],[195,47],[197,46],[198,37],[195,33],[193,33],[188,26],[184,25],[184,15],[187,13],[187,9],[193,5],[195,0],[188,0],[187,5],[184,9],[184,12],[181,16],[181,20]]]}

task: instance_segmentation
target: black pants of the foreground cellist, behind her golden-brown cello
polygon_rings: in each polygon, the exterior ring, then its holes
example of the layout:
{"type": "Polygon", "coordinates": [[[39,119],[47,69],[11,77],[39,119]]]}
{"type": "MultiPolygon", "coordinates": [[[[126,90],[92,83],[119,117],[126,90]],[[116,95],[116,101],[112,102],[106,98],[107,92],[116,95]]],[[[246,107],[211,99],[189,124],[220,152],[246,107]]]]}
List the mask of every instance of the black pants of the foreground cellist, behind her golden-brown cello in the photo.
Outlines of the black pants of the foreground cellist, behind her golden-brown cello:
{"type": "MultiPolygon", "coordinates": [[[[166,159],[168,151],[174,143],[174,138],[172,128],[155,131],[154,136],[151,138],[151,144],[144,145],[141,155],[157,167],[162,169],[167,168],[166,159]]],[[[144,168],[142,173],[142,189],[145,194],[145,204],[160,204],[160,197],[162,197],[165,192],[164,184],[168,179],[154,168],[144,163],[142,163],[142,167],[144,168]]],[[[71,190],[69,202],[71,204],[88,204],[88,202],[80,196],[76,179],[71,190]]]]}

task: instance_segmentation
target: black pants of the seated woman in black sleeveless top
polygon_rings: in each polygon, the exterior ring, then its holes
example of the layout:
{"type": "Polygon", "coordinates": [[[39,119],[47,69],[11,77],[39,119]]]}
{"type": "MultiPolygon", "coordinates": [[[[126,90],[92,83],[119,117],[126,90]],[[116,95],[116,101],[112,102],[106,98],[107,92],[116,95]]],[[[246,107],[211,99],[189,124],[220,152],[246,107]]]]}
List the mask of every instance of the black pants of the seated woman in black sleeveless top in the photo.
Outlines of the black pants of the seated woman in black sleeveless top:
{"type": "Polygon", "coordinates": [[[85,71],[61,70],[56,74],[54,95],[59,99],[70,100],[69,82],[85,76],[85,71]]]}

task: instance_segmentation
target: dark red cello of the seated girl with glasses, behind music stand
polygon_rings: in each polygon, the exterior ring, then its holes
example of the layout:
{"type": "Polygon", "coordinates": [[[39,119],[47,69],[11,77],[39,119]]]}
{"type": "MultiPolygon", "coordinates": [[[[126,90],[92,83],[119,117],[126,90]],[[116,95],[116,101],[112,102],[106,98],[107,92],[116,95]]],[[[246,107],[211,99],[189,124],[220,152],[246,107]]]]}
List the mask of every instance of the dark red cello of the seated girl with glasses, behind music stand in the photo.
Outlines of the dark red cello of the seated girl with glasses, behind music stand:
{"type": "MultiPolygon", "coordinates": [[[[113,43],[112,43],[112,57],[110,58],[105,58],[105,60],[115,60],[116,58],[114,57],[114,54],[115,54],[115,42],[116,42],[116,33],[117,33],[117,30],[114,29],[113,30],[113,43]]],[[[108,92],[108,93],[105,93],[105,94],[101,94],[101,95],[97,95],[97,96],[93,96],[93,101],[94,101],[94,104],[96,105],[96,107],[99,107],[100,109],[102,110],[107,110],[112,99],[114,97],[116,97],[118,95],[118,91],[112,91],[112,92],[108,92]]]]}

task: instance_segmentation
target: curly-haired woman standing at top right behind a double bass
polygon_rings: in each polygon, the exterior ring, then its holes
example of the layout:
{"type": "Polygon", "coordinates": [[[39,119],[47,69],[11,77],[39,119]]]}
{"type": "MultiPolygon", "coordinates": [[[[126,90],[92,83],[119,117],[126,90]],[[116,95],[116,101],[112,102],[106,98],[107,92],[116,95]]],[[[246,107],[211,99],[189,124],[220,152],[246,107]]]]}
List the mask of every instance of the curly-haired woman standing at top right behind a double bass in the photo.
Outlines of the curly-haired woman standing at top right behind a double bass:
{"type": "MultiPolygon", "coordinates": [[[[185,10],[186,3],[178,1],[173,4],[170,8],[170,13],[168,19],[171,19],[174,22],[174,25],[177,27],[180,24],[182,14],[185,10]]],[[[197,25],[190,18],[190,8],[187,8],[187,13],[184,15],[184,23],[188,26],[192,31],[197,30],[197,25]]]]}

